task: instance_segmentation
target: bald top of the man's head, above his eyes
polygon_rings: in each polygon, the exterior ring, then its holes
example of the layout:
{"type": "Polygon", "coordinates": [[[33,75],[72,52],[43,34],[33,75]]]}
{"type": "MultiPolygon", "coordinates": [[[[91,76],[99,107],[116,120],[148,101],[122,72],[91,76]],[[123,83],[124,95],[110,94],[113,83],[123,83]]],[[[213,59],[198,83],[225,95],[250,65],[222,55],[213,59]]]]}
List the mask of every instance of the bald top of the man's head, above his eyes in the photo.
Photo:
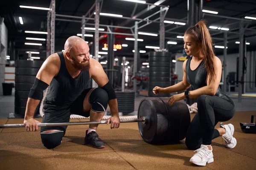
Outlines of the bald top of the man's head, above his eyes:
{"type": "Polygon", "coordinates": [[[89,48],[88,44],[81,39],[80,37],[77,36],[71,36],[69,37],[64,45],[64,49],[66,52],[70,52],[72,49],[77,49],[77,48],[89,48]]]}

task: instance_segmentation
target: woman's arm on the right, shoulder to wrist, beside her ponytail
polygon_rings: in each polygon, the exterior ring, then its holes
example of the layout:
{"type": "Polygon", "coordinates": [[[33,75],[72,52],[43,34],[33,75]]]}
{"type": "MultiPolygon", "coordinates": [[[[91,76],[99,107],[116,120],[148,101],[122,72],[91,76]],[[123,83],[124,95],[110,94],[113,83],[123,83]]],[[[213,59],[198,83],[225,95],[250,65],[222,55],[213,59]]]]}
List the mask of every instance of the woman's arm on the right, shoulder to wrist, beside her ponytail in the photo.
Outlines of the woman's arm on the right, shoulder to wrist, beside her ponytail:
{"type": "Polygon", "coordinates": [[[195,98],[198,98],[198,96],[201,96],[202,94],[211,95],[211,96],[216,94],[218,86],[221,82],[221,72],[222,72],[221,60],[216,56],[214,60],[214,68],[216,68],[216,77],[208,77],[206,86],[202,88],[198,88],[193,91],[189,91],[189,98],[195,99],[195,98]],[[212,79],[211,83],[209,83],[210,79],[212,79]]]}

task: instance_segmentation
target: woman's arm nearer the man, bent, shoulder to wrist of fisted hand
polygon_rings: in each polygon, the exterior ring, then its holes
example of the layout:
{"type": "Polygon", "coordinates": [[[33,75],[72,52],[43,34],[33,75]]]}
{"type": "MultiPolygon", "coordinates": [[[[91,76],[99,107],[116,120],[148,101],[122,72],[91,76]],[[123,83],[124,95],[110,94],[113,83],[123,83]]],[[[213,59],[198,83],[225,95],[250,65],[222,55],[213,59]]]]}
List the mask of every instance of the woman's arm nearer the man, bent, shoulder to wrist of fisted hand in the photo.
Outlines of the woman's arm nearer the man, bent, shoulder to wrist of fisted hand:
{"type": "Polygon", "coordinates": [[[190,87],[189,82],[187,82],[186,79],[186,61],[183,62],[183,80],[176,85],[172,85],[170,87],[164,88],[163,92],[164,93],[173,93],[173,92],[178,92],[178,91],[184,91],[190,87]]]}

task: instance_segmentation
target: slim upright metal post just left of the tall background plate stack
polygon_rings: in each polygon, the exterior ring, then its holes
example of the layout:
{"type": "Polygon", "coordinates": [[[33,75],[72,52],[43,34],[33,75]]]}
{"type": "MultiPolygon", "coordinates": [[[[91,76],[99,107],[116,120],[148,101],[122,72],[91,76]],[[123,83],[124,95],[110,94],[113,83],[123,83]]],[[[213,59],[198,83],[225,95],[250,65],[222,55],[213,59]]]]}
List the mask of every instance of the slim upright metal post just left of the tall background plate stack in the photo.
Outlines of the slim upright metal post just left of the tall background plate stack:
{"type": "Polygon", "coordinates": [[[133,86],[134,86],[134,92],[135,92],[135,97],[137,96],[137,58],[138,58],[138,22],[136,21],[135,22],[135,25],[134,25],[134,38],[135,38],[135,41],[134,41],[134,83],[133,83],[133,86]]]}

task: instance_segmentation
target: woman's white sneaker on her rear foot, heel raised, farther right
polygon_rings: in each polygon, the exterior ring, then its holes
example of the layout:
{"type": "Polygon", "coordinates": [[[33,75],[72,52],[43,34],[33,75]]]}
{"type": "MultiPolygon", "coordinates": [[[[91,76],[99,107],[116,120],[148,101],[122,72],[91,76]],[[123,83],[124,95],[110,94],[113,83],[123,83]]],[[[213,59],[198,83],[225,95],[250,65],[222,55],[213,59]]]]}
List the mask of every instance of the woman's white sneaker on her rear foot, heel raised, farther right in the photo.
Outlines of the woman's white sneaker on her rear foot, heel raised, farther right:
{"type": "Polygon", "coordinates": [[[236,146],[236,138],[233,137],[234,126],[232,124],[222,125],[221,127],[225,128],[226,132],[221,137],[226,141],[226,147],[232,149],[236,146]]]}

